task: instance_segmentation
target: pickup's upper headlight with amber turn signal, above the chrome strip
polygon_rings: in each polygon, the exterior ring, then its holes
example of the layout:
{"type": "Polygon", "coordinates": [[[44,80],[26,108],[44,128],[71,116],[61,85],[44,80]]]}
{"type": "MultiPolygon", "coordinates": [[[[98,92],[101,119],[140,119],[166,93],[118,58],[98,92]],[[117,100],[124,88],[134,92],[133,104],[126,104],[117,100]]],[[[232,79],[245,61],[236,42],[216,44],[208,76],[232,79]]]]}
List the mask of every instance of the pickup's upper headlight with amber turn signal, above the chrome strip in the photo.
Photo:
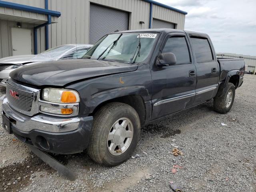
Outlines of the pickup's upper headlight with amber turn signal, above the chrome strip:
{"type": "Polygon", "coordinates": [[[55,103],[77,103],[80,101],[79,94],[70,89],[45,88],[42,99],[55,103]]]}

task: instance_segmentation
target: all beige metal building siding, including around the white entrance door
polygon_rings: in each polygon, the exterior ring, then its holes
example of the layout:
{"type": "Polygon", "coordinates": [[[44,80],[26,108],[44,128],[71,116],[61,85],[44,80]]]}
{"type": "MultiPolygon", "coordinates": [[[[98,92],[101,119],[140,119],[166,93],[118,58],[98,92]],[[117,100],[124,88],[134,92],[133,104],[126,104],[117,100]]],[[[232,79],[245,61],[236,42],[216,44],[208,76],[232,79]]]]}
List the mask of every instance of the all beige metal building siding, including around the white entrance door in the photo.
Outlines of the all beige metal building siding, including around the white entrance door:
{"type": "MultiPolygon", "coordinates": [[[[18,4],[44,8],[45,0],[6,0],[18,4]]],[[[90,2],[129,12],[129,30],[146,29],[149,26],[150,3],[143,0],[48,0],[49,9],[61,12],[57,24],[49,25],[49,48],[62,44],[89,43],[90,2]],[[76,18],[76,29],[75,29],[76,18]],[[143,21],[144,24],[139,22],[143,21]]],[[[153,5],[153,18],[175,23],[175,28],[184,29],[185,15],[161,6],[153,5]]],[[[12,55],[10,27],[14,22],[0,21],[0,58],[12,55]],[[6,23],[7,22],[7,23],[6,23]],[[6,32],[7,31],[7,32],[6,32]],[[7,42],[8,41],[8,42],[7,42]],[[4,49],[2,48],[4,46],[4,49]],[[6,48],[7,46],[7,48],[6,48]]],[[[22,23],[22,28],[34,25],[22,23]]],[[[34,39],[34,33],[32,33],[34,39]]],[[[34,42],[33,42],[34,43],[34,42]]],[[[45,50],[45,28],[38,29],[38,53],[45,50]]],[[[33,46],[34,51],[34,46],[33,46]]]]}

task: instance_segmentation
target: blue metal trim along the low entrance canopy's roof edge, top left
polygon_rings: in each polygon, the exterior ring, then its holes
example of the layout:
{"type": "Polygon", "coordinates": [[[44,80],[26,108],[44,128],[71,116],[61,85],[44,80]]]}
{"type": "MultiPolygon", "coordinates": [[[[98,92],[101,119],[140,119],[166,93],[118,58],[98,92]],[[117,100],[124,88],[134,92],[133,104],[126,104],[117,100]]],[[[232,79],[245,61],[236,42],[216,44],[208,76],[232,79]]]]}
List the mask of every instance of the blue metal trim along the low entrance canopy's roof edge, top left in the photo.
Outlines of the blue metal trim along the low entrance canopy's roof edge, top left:
{"type": "Polygon", "coordinates": [[[42,8],[38,8],[38,7],[32,7],[32,6],[22,5],[22,4],[18,4],[18,3],[11,3],[11,2],[6,2],[6,1],[1,1],[1,0],[0,0],[0,7],[18,9],[18,10],[29,11],[29,12],[34,12],[34,13],[57,16],[57,17],[59,17],[61,15],[60,12],[58,12],[58,11],[52,11],[52,10],[48,10],[48,9],[42,9],[42,8]]]}

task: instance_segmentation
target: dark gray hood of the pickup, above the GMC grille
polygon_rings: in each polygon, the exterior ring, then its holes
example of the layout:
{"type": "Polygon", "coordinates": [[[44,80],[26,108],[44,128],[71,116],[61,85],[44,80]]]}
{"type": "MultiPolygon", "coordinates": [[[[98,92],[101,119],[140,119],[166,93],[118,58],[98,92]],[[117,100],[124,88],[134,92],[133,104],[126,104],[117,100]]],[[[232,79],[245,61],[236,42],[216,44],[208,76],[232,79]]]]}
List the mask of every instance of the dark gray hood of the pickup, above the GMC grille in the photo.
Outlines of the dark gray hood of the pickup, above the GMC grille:
{"type": "Polygon", "coordinates": [[[137,65],[101,60],[61,60],[20,67],[12,71],[10,77],[35,86],[64,86],[86,78],[130,72],[137,68],[137,65]]]}

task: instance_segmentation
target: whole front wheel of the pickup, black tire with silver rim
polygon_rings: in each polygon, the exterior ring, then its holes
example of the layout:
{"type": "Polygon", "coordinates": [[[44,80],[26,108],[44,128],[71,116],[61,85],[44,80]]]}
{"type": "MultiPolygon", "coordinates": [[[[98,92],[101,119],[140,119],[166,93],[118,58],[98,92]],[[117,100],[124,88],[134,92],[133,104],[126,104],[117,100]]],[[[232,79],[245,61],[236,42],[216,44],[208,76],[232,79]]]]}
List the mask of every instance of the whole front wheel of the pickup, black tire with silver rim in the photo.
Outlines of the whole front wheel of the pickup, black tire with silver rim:
{"type": "Polygon", "coordinates": [[[140,118],[136,110],[130,105],[112,102],[100,108],[94,115],[87,151],[90,158],[98,164],[116,166],[126,161],[132,155],[139,137],[140,118]],[[125,126],[122,127],[123,122],[128,123],[125,129],[125,126]],[[126,132],[132,132],[132,128],[133,134],[130,134],[132,137],[125,138],[123,141],[124,146],[127,144],[126,148],[124,149],[121,146],[122,144],[120,144],[115,150],[112,150],[117,142],[122,143],[122,139],[126,137],[126,132]],[[109,140],[111,134],[113,139],[109,140]],[[120,147],[122,148],[120,149],[120,147]]]}

